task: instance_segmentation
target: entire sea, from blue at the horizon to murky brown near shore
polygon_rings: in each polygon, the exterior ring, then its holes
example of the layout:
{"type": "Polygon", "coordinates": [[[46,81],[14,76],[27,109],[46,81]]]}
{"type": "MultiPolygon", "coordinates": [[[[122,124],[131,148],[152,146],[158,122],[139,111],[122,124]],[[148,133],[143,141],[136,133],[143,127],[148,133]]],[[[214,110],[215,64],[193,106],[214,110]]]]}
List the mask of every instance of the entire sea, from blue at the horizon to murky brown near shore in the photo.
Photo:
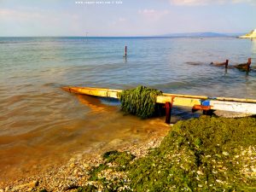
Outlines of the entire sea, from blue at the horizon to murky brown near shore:
{"type": "Polygon", "coordinates": [[[238,38],[0,38],[0,182],[166,129],[61,86],[256,98],[255,61],[256,41],[238,38]],[[209,65],[248,57],[251,73],[209,65]]]}

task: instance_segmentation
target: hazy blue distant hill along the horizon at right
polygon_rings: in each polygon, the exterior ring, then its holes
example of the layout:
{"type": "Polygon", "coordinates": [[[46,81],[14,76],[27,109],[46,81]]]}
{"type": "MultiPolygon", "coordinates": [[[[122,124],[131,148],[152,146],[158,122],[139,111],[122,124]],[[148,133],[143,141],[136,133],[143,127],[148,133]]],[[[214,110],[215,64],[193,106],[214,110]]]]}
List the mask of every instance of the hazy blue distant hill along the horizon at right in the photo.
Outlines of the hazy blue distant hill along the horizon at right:
{"type": "Polygon", "coordinates": [[[169,33],[161,35],[161,37],[173,38],[214,38],[214,37],[238,37],[241,33],[218,33],[218,32],[184,32],[169,33]]]}

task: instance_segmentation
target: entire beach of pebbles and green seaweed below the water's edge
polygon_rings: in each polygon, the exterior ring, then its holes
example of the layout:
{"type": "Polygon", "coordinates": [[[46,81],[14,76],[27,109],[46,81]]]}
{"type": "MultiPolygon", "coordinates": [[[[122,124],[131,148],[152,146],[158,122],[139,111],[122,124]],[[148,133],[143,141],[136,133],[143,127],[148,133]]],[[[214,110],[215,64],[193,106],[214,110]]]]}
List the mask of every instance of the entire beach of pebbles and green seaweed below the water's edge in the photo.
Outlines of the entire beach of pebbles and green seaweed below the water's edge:
{"type": "Polygon", "coordinates": [[[256,189],[255,118],[203,115],[168,127],[161,137],[152,134],[143,143],[90,158],[76,155],[63,166],[9,183],[0,192],[256,189]]]}

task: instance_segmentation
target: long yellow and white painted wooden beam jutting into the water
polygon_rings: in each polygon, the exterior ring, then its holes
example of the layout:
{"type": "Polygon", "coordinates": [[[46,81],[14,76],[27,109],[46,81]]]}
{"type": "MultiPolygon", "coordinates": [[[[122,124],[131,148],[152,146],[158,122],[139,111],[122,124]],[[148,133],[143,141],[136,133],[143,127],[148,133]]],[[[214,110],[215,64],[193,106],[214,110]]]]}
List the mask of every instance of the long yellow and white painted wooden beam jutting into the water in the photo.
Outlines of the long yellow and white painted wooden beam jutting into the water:
{"type": "MultiPolygon", "coordinates": [[[[119,99],[119,93],[122,91],[92,87],[63,87],[62,89],[76,94],[111,97],[115,99],[119,99]]],[[[256,100],[254,99],[191,96],[164,93],[163,96],[157,96],[156,102],[166,105],[166,114],[168,113],[168,115],[170,115],[170,117],[166,116],[166,123],[170,123],[172,106],[189,107],[194,111],[203,110],[204,112],[223,110],[245,113],[247,116],[256,114],[256,100]]]]}

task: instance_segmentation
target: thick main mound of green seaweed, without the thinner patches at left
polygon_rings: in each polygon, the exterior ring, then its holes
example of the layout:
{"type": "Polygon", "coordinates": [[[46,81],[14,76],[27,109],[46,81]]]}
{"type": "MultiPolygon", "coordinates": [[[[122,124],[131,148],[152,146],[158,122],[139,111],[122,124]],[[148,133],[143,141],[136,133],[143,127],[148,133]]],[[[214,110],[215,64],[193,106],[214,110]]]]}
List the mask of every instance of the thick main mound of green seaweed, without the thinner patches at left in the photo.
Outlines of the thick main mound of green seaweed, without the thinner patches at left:
{"type": "Polygon", "coordinates": [[[140,191],[232,191],[245,189],[246,183],[255,186],[255,177],[242,182],[242,165],[236,164],[234,158],[241,147],[256,145],[255,135],[255,119],[180,121],[160,148],[133,164],[131,188],[140,191]]]}

